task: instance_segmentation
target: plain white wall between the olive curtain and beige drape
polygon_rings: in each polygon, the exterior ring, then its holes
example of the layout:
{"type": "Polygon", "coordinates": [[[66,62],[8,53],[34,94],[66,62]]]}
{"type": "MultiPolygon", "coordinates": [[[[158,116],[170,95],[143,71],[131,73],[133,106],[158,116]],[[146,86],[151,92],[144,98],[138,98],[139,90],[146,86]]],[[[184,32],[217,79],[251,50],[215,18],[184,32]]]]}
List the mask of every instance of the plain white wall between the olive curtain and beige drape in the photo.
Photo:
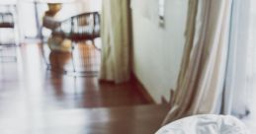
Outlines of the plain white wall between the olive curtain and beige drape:
{"type": "Polygon", "coordinates": [[[185,43],[188,0],[165,0],[165,28],[158,24],[158,0],[133,0],[133,73],[154,100],[175,89],[185,43]]]}

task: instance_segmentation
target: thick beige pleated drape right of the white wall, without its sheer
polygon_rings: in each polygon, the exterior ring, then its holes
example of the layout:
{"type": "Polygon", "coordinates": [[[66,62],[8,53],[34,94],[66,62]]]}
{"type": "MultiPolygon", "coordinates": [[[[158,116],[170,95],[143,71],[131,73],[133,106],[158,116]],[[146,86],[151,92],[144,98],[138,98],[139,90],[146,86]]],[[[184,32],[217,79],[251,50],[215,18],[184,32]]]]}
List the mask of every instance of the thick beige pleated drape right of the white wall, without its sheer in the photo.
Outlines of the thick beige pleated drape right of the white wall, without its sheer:
{"type": "Polygon", "coordinates": [[[232,0],[190,0],[183,61],[164,123],[220,111],[232,0]]]}

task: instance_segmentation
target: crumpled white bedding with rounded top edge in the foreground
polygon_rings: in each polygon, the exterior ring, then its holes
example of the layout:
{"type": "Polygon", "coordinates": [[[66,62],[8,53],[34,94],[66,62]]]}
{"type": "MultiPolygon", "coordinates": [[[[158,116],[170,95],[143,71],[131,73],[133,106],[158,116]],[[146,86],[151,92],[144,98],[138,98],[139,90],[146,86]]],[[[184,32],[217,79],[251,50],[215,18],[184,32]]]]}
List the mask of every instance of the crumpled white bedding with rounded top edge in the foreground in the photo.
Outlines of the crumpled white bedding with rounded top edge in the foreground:
{"type": "Polygon", "coordinates": [[[196,115],[174,121],[156,134],[250,134],[247,127],[232,116],[196,115]]]}

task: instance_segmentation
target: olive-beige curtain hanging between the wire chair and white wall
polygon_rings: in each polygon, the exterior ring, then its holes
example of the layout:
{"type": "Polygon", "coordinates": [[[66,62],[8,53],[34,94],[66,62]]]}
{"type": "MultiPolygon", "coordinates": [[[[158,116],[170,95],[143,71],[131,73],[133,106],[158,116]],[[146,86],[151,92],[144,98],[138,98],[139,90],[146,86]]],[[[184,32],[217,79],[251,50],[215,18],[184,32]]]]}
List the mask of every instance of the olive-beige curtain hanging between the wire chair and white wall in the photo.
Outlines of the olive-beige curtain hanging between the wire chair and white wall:
{"type": "Polygon", "coordinates": [[[128,0],[102,1],[101,80],[126,82],[130,75],[128,0]]]}

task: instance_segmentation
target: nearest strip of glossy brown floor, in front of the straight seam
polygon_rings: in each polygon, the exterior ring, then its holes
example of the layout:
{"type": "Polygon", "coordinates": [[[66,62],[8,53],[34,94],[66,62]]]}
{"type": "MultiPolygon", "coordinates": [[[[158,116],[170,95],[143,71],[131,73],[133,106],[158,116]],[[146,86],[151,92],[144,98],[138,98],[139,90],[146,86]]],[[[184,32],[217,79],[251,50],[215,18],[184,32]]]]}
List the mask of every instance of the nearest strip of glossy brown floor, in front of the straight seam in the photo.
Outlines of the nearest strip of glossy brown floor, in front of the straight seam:
{"type": "Polygon", "coordinates": [[[65,109],[2,117],[1,134],[153,134],[167,105],[65,109]]]}

